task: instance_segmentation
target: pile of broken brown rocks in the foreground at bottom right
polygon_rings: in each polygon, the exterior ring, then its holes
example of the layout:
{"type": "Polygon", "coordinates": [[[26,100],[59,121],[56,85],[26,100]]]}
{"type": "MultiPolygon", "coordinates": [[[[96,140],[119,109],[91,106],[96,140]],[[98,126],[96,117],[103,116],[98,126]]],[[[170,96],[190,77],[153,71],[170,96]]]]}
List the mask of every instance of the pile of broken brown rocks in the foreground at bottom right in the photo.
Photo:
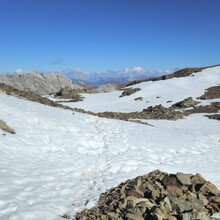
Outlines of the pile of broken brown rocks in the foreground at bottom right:
{"type": "Polygon", "coordinates": [[[76,220],[210,220],[220,212],[220,191],[200,174],[158,170],[101,194],[76,220]]]}

